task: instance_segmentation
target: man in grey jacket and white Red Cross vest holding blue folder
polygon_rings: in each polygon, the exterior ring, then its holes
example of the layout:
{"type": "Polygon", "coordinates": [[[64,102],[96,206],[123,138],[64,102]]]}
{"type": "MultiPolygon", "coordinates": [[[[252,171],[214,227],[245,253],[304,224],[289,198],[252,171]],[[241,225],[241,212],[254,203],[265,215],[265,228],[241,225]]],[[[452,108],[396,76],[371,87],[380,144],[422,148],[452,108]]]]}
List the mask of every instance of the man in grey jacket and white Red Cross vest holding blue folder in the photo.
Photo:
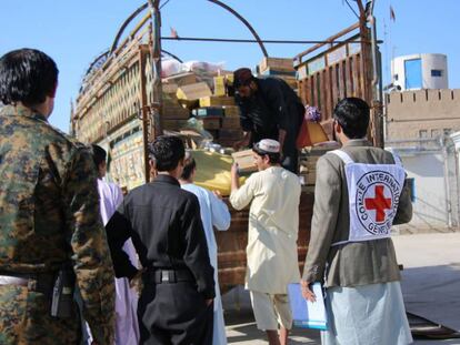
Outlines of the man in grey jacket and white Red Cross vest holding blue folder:
{"type": "Polygon", "coordinates": [[[342,149],[317,163],[301,285],[303,296],[314,301],[310,284],[326,280],[330,325],[321,341],[327,345],[412,342],[390,239],[392,224],[412,217],[410,191],[399,158],[366,140],[368,125],[363,100],[340,101],[333,131],[342,149]]]}

